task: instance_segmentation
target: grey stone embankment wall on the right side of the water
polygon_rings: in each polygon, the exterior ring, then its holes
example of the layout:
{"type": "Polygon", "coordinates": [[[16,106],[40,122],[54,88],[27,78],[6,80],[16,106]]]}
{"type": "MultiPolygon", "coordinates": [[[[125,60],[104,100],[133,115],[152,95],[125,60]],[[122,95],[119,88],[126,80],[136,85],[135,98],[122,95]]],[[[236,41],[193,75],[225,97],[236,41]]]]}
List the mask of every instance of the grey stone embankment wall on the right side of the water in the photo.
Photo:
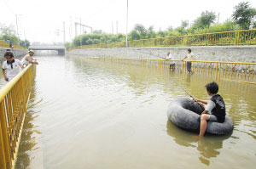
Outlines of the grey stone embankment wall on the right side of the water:
{"type": "Polygon", "coordinates": [[[255,46],[218,46],[218,47],[163,47],[163,48],[96,48],[74,49],[67,52],[68,56],[160,59],[169,51],[174,59],[183,59],[187,49],[191,48],[196,60],[255,62],[255,46]],[[159,57],[158,57],[159,56],[159,57]]]}

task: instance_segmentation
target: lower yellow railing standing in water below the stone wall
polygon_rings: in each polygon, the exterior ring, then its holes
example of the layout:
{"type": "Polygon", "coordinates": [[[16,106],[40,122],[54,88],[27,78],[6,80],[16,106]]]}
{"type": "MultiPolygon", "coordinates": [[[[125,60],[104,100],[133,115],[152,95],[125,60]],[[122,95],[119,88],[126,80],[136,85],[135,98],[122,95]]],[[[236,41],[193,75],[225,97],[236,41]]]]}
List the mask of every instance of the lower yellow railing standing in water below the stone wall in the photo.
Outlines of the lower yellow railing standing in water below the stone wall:
{"type": "Polygon", "coordinates": [[[215,80],[226,80],[231,82],[242,82],[256,85],[256,63],[243,62],[218,62],[218,61],[200,61],[200,60],[171,60],[166,59],[131,59],[131,58],[86,58],[101,59],[102,61],[117,61],[125,64],[132,64],[134,61],[142,61],[143,65],[155,62],[158,66],[166,66],[170,69],[170,64],[175,64],[172,71],[182,71],[189,73],[188,62],[191,62],[191,73],[201,76],[214,76],[215,80]]]}

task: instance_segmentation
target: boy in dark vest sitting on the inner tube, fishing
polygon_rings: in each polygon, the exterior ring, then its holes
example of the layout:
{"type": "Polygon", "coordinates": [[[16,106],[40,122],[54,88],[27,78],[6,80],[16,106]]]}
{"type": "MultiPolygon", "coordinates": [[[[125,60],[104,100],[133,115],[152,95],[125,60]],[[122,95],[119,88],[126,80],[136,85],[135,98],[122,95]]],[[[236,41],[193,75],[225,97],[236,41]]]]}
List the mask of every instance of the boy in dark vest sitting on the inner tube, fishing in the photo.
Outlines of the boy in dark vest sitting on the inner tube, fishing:
{"type": "Polygon", "coordinates": [[[205,110],[201,113],[201,124],[199,136],[204,136],[207,130],[207,121],[224,122],[225,121],[225,103],[224,99],[217,94],[218,84],[216,82],[210,82],[206,85],[207,94],[212,96],[210,100],[201,100],[194,98],[195,102],[201,104],[205,110]]]}

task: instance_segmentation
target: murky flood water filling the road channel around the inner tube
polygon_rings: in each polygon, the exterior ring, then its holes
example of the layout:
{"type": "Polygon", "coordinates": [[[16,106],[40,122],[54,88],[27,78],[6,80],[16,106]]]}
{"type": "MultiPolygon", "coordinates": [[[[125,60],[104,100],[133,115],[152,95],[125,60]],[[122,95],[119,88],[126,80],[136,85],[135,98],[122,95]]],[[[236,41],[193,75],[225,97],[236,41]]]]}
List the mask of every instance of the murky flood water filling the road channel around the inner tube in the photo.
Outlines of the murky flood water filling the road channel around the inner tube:
{"type": "Polygon", "coordinates": [[[188,95],[209,99],[213,76],[154,65],[80,57],[38,57],[17,169],[253,168],[256,87],[219,82],[235,129],[193,138],[167,120],[167,106],[188,95]]]}

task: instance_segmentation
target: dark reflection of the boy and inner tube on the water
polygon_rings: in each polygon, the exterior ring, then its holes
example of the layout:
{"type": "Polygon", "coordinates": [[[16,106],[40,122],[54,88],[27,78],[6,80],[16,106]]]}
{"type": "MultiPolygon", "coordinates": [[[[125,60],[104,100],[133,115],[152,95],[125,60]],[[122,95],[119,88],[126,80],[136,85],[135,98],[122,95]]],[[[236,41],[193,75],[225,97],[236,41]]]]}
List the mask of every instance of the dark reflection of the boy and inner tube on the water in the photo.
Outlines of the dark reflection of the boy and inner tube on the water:
{"type": "MultiPolygon", "coordinates": [[[[187,132],[176,127],[171,121],[166,122],[166,132],[173,140],[184,147],[197,148],[200,153],[199,160],[201,163],[210,166],[210,159],[220,155],[220,149],[223,148],[224,140],[230,138],[230,135],[216,136],[207,135],[204,138],[193,138],[195,132],[187,132]]],[[[196,133],[197,134],[197,133],[196,133]]]]}

